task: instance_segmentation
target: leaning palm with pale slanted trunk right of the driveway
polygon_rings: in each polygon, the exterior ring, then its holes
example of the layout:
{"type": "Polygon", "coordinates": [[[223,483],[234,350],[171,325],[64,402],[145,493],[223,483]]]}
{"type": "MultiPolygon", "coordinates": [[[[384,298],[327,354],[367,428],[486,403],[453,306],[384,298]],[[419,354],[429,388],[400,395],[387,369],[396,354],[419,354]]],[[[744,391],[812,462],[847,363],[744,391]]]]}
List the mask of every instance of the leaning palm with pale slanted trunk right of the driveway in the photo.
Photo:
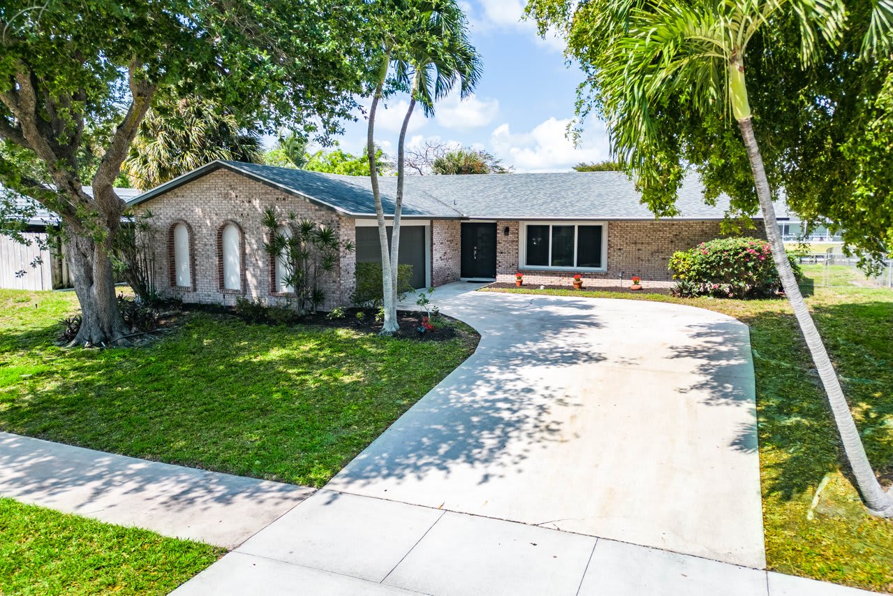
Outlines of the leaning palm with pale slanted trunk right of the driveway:
{"type": "MultiPolygon", "coordinates": [[[[623,3],[620,3],[623,4],[623,3]]],[[[883,3],[876,3],[880,6],[883,3]]],[[[622,164],[637,172],[639,180],[655,180],[649,153],[660,134],[652,114],[687,97],[685,105],[696,115],[711,110],[730,111],[738,123],[753,171],[756,194],[763,212],[772,258],[806,346],[813,357],[840,439],[867,507],[878,516],[893,516],[893,497],[878,483],[847,405],[828,352],[806,307],[781,241],[772,206],[772,189],[757,146],[747,100],[745,58],[747,43],[772,18],[797,20],[801,56],[805,64],[818,58],[822,38],[837,43],[845,26],[845,10],[838,0],[669,0],[638,4],[615,19],[616,37],[607,45],[607,67],[599,73],[600,96],[612,131],[613,150],[622,164]],[[782,14],[784,13],[784,14],[782,14]]],[[[882,14],[881,14],[882,16],[882,14]]],[[[889,43],[889,21],[879,19],[866,40],[865,52],[889,43]],[[882,26],[886,23],[887,29],[882,26]]]]}

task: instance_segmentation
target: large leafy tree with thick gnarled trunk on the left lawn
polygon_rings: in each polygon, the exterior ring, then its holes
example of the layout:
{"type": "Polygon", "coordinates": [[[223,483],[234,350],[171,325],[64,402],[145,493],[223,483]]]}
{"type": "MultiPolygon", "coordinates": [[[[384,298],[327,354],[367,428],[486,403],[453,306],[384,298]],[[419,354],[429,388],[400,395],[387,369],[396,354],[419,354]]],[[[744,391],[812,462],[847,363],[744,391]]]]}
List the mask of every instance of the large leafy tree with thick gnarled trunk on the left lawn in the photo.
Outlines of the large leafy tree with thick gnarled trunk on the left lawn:
{"type": "Polygon", "coordinates": [[[336,130],[363,89],[365,10],[362,0],[0,4],[0,184],[63,221],[77,343],[125,333],[109,258],[125,206],[113,182],[156,98],[210,98],[268,130],[336,130]],[[91,130],[109,134],[85,160],[91,130]]]}

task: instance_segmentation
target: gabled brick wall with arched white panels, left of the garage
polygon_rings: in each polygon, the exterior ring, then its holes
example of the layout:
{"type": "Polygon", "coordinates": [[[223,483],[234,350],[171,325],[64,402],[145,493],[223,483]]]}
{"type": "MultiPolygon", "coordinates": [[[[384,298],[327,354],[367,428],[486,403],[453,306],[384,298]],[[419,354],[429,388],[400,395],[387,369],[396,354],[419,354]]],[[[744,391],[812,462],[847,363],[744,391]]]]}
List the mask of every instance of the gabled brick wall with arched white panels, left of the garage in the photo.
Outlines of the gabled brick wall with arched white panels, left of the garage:
{"type": "MultiPolygon", "coordinates": [[[[273,260],[263,250],[269,231],[263,227],[263,211],[275,207],[283,216],[294,212],[298,219],[310,219],[338,231],[340,239],[355,241],[354,221],[328,209],[312,205],[272,189],[244,176],[218,170],[193,180],[145,203],[154,217],[157,246],[155,278],[159,290],[184,302],[231,306],[238,296],[262,300],[267,304],[284,303],[288,298],[273,292],[273,260]],[[186,222],[190,231],[192,288],[171,285],[173,247],[171,227],[186,222]],[[227,222],[235,222],[242,231],[243,290],[222,290],[220,235],[227,222]]],[[[322,309],[346,304],[355,284],[355,257],[342,256],[336,271],[324,273],[321,284],[326,293],[322,309]]]]}

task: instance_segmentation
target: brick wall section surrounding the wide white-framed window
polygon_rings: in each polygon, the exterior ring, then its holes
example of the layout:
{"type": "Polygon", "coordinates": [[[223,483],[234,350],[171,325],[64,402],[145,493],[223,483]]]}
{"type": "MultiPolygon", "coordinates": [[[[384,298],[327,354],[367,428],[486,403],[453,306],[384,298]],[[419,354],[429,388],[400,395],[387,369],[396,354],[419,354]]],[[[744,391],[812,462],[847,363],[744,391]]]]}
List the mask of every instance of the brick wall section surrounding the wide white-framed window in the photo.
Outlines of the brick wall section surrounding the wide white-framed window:
{"type": "MultiPolygon", "coordinates": [[[[745,234],[765,238],[762,222],[745,234]]],[[[497,281],[514,282],[518,264],[518,222],[497,222],[497,281]],[[508,227],[509,235],[505,236],[508,227]]],[[[720,222],[627,221],[608,222],[607,271],[583,273],[590,286],[614,285],[622,273],[624,280],[638,275],[655,286],[671,286],[672,273],[667,270],[670,256],[706,240],[721,238],[720,222]]],[[[524,283],[530,285],[571,285],[574,272],[522,269],[524,283]]],[[[581,272],[582,273],[582,272],[581,272]]]]}

